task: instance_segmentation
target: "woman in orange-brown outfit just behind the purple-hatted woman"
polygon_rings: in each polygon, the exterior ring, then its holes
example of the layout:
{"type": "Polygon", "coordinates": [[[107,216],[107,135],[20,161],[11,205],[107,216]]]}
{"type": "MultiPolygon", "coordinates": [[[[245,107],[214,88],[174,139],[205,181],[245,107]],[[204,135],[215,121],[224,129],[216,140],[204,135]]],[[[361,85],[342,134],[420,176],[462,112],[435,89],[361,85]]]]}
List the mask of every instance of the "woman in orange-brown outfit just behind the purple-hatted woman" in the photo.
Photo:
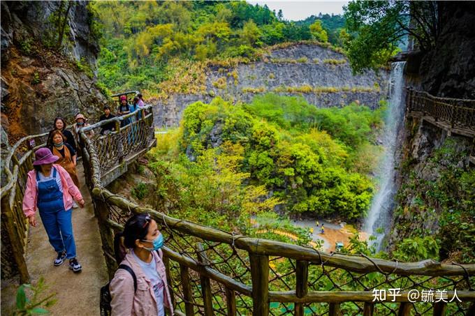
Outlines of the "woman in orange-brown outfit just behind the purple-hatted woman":
{"type": "MultiPolygon", "coordinates": [[[[73,179],[75,186],[79,188],[78,173],[76,172],[76,151],[64,142],[66,138],[59,130],[54,130],[51,135],[53,144],[50,148],[51,152],[59,158],[57,161],[58,165],[64,167],[69,176],[71,176],[71,179],[73,179]]],[[[73,208],[77,207],[78,205],[74,202],[73,208]]]]}

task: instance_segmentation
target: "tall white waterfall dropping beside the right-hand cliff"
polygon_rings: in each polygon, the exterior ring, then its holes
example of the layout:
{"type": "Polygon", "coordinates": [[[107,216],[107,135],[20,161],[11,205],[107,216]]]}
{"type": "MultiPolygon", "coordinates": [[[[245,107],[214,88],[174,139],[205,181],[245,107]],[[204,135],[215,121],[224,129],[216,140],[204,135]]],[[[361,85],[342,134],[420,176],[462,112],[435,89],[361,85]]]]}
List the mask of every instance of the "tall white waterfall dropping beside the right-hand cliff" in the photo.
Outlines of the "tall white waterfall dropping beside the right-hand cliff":
{"type": "Polygon", "coordinates": [[[397,135],[404,119],[404,65],[405,61],[391,64],[389,78],[389,103],[383,130],[384,156],[376,170],[378,190],[374,195],[371,209],[365,220],[364,231],[377,239],[377,250],[384,235],[390,229],[391,213],[394,208],[395,187],[395,153],[397,135]]]}

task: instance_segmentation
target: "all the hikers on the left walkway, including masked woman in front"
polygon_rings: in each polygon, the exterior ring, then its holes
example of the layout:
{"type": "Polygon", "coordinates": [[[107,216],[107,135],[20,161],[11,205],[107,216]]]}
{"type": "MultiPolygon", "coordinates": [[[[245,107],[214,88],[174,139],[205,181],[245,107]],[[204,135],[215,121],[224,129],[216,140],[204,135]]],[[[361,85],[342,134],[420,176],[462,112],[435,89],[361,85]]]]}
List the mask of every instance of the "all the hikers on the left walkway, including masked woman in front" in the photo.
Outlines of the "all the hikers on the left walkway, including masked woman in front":
{"type": "MultiPolygon", "coordinates": [[[[126,96],[120,97],[120,103],[119,116],[144,107],[140,95],[134,98],[133,105],[127,103],[126,96]]],[[[110,107],[105,106],[99,121],[112,117],[115,116],[110,113],[110,107]]],[[[131,121],[122,123],[126,126],[131,121]]],[[[32,227],[38,227],[38,210],[56,253],[53,265],[61,266],[68,259],[69,269],[78,273],[82,266],[76,253],[72,212],[78,206],[85,206],[76,164],[78,149],[83,146],[78,131],[88,124],[84,115],[77,114],[73,132],[66,129],[66,122],[61,117],[54,119],[53,125],[47,146],[35,151],[34,169],[28,172],[22,209],[32,227]]],[[[102,126],[101,134],[114,129],[115,126],[109,129],[109,125],[102,126]]],[[[92,130],[88,133],[88,136],[93,135],[92,130]]],[[[117,263],[121,264],[106,285],[111,299],[103,304],[101,298],[101,310],[105,309],[108,315],[164,316],[165,308],[168,308],[173,315],[162,246],[163,236],[149,215],[138,214],[127,220],[124,232],[115,236],[115,255],[117,263]]]]}

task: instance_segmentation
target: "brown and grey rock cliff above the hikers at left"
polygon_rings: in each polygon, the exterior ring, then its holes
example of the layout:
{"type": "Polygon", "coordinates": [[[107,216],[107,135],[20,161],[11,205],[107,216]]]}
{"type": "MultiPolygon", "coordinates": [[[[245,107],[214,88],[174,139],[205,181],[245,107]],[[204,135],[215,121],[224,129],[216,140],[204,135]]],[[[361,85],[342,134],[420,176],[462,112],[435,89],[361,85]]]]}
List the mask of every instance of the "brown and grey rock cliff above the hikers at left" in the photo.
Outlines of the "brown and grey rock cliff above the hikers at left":
{"type": "Polygon", "coordinates": [[[10,142],[49,130],[55,116],[68,123],[78,112],[96,116],[105,103],[95,85],[99,48],[87,1],[63,8],[67,27],[61,49],[45,45],[60,3],[1,2],[1,125],[10,142]]]}

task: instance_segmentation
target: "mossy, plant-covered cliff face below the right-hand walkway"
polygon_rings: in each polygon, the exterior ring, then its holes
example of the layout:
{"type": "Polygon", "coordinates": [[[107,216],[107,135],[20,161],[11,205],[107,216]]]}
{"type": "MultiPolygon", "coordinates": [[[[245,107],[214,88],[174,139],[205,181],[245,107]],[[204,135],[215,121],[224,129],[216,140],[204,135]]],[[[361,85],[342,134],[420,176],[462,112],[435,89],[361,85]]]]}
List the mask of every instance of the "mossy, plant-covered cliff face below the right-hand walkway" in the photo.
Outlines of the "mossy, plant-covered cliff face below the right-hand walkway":
{"type": "MultiPolygon", "coordinates": [[[[446,130],[412,117],[406,118],[404,142],[398,168],[397,208],[389,245],[393,250],[404,238],[432,236],[441,241],[441,259],[460,254],[463,240],[451,240],[447,232],[452,212],[460,213],[467,223],[466,200],[475,197],[475,188],[467,186],[475,179],[475,169],[469,163],[474,146],[471,137],[449,135],[446,130]]],[[[473,212],[473,211],[472,211],[473,212]]],[[[473,246],[472,240],[472,246],[473,246]]],[[[455,256],[455,257],[454,257],[455,256]]],[[[460,261],[460,257],[456,258],[460,261]]]]}

